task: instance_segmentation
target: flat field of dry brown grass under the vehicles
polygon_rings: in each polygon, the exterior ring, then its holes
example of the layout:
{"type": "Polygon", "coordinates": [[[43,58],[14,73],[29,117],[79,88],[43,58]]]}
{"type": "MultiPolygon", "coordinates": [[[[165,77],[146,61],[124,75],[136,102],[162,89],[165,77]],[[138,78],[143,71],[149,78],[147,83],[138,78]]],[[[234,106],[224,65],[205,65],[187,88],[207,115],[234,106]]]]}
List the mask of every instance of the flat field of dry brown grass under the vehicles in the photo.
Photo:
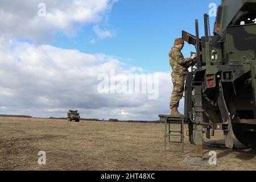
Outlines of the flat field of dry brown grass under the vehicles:
{"type": "MultiPolygon", "coordinates": [[[[160,123],[0,119],[0,170],[256,170],[256,151],[237,140],[242,148],[236,150],[204,146],[205,156],[217,152],[216,168],[183,163],[195,155],[195,146],[185,137],[184,154],[164,152],[160,123]],[[38,164],[39,151],[46,152],[46,165],[38,164]]],[[[205,141],[224,143],[216,134],[205,141]]]]}

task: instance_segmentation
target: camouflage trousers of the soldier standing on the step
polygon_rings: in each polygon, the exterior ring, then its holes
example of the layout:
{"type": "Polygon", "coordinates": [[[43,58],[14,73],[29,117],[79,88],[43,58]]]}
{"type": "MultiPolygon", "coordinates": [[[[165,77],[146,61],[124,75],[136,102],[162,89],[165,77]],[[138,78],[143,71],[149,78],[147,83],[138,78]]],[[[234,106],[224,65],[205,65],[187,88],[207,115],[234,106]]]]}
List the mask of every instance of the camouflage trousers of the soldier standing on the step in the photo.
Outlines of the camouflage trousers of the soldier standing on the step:
{"type": "Polygon", "coordinates": [[[172,95],[170,101],[170,108],[179,107],[180,100],[183,97],[184,92],[184,78],[185,75],[173,75],[172,76],[172,95]]]}

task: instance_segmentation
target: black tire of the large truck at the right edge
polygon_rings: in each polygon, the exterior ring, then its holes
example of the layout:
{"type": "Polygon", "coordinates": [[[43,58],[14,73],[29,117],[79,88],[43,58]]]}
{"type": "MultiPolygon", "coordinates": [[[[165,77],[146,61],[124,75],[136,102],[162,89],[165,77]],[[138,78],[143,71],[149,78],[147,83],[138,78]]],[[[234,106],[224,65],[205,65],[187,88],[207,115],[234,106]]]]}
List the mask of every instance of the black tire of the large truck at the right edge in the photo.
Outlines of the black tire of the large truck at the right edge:
{"type": "Polygon", "coordinates": [[[242,127],[246,127],[243,124],[233,124],[233,133],[239,142],[246,147],[256,149],[256,133],[251,131],[243,131],[242,127]]]}

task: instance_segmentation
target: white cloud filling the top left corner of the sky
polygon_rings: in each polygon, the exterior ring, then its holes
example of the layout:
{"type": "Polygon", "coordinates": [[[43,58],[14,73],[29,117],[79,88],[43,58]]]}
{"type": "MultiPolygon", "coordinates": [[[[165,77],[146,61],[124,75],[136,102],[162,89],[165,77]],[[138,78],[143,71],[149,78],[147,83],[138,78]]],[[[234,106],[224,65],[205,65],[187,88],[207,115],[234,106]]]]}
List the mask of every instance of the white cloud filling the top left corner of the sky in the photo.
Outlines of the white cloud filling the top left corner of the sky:
{"type": "Polygon", "coordinates": [[[54,39],[57,32],[71,36],[89,23],[98,23],[116,0],[44,0],[46,16],[38,16],[41,0],[1,0],[0,36],[28,39],[36,44],[54,39]]]}

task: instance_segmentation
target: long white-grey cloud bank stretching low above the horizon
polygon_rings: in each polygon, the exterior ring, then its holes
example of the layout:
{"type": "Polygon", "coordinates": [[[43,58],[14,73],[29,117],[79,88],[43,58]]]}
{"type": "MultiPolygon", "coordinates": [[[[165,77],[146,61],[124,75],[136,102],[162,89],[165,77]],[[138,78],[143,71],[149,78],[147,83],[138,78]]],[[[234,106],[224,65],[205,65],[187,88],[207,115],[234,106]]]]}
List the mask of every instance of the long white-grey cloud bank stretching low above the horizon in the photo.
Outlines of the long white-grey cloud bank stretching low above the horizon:
{"type": "Polygon", "coordinates": [[[128,74],[113,56],[6,39],[0,46],[0,67],[5,68],[0,70],[1,114],[65,117],[69,109],[79,109],[86,118],[138,120],[169,112],[169,73],[159,73],[158,100],[148,100],[148,94],[100,94],[100,73],[128,74]]]}

